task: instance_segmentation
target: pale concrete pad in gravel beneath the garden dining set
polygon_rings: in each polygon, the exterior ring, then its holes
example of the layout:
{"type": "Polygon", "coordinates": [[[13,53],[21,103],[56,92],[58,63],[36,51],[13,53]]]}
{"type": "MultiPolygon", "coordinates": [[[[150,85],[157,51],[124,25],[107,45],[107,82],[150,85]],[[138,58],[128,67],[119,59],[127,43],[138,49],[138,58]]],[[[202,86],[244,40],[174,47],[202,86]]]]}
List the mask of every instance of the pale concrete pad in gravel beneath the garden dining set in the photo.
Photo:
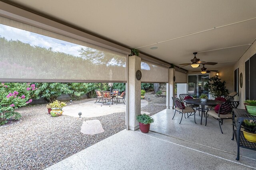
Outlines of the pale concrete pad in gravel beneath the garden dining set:
{"type": "MultiPolygon", "coordinates": [[[[101,105],[100,102],[94,103],[95,100],[81,103],[81,104],[74,104],[71,106],[63,107],[63,115],[73,116],[73,117],[79,117],[78,113],[82,112],[81,117],[98,117],[98,116],[104,116],[109,115],[112,113],[119,113],[119,112],[125,112],[126,111],[126,105],[124,103],[114,103],[113,105],[109,107],[109,104],[101,105]]],[[[147,106],[148,102],[146,100],[141,100],[141,107],[147,106]]],[[[146,111],[141,111],[141,113],[149,114],[146,111]]]]}

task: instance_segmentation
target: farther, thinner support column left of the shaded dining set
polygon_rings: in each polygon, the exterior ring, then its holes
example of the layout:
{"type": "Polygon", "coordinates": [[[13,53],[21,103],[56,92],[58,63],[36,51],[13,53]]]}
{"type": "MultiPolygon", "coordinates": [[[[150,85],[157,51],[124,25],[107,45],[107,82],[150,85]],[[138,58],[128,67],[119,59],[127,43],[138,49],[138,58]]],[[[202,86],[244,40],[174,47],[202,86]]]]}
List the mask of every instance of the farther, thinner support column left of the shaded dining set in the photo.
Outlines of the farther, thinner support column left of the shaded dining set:
{"type": "Polygon", "coordinates": [[[169,82],[168,82],[169,108],[167,108],[167,109],[174,109],[174,105],[173,105],[173,101],[172,101],[172,97],[174,97],[174,88],[175,88],[174,76],[175,76],[175,69],[169,68],[169,82]]]}

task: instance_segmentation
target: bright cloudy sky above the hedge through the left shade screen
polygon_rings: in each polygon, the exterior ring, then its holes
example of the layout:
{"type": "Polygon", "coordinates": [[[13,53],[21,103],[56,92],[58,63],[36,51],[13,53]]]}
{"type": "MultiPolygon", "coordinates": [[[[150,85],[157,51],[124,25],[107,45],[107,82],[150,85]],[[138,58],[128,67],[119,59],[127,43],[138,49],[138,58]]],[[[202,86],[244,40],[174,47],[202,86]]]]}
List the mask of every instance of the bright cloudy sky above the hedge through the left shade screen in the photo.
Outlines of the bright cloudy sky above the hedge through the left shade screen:
{"type": "Polygon", "coordinates": [[[47,37],[37,33],[32,33],[22,29],[10,27],[7,25],[0,24],[0,36],[5,37],[7,40],[19,40],[23,43],[29,43],[30,45],[36,45],[39,47],[52,47],[53,51],[59,51],[74,56],[79,56],[78,50],[84,46],[69,43],[52,37],[47,37]],[[18,37],[18,38],[17,38],[18,37]]]}

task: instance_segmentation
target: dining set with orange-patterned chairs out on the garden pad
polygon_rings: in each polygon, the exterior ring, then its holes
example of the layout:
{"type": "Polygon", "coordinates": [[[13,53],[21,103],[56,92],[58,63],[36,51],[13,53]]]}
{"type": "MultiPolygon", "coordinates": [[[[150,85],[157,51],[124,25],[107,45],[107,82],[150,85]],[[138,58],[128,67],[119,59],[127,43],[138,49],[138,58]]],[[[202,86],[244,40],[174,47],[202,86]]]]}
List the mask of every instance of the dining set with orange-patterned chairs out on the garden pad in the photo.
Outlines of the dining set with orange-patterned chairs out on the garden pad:
{"type": "Polygon", "coordinates": [[[98,102],[100,102],[100,99],[101,99],[101,106],[102,104],[106,104],[106,102],[109,102],[109,107],[110,107],[111,103],[112,105],[114,102],[116,104],[120,103],[120,99],[122,99],[125,104],[125,91],[122,92],[121,94],[119,89],[113,89],[112,92],[100,91],[100,90],[95,90],[95,92],[97,94],[96,102],[98,101],[98,99],[99,99],[98,102]]]}

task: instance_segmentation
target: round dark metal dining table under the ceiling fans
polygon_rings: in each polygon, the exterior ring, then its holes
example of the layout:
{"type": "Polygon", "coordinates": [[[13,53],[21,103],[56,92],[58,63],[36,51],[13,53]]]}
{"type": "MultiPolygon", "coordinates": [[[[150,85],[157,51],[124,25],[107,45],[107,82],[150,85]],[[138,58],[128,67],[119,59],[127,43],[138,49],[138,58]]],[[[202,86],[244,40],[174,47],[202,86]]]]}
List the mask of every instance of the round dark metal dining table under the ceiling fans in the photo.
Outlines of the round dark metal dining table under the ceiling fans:
{"type": "MultiPolygon", "coordinates": [[[[207,100],[207,102],[201,102],[200,99],[186,99],[184,100],[187,104],[195,104],[195,105],[201,105],[201,109],[199,108],[198,111],[200,113],[201,110],[201,125],[202,125],[202,119],[203,119],[203,113],[205,115],[205,107],[204,106],[216,106],[218,104],[222,104],[223,102],[217,101],[217,100],[207,100]]],[[[205,115],[206,116],[206,115],[205,115]]]]}

